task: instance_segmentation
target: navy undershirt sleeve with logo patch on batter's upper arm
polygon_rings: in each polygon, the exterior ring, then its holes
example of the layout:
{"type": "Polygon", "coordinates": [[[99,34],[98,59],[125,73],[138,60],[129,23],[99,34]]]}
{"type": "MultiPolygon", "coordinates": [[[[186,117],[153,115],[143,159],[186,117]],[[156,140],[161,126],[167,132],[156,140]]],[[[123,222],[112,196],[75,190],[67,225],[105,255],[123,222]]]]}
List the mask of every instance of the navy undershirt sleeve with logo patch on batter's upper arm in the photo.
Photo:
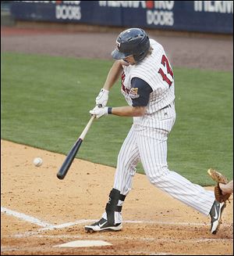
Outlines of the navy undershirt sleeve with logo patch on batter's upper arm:
{"type": "Polygon", "coordinates": [[[129,96],[133,100],[133,106],[147,106],[150,93],[153,92],[151,86],[140,78],[133,78],[129,96]]]}

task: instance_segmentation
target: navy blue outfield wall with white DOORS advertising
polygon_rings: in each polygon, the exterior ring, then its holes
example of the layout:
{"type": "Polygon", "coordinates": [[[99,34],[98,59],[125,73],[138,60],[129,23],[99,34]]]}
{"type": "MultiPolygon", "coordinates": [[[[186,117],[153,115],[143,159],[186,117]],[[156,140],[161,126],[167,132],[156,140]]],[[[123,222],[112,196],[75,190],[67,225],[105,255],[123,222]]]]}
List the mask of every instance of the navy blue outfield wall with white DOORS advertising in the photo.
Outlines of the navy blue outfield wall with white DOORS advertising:
{"type": "Polygon", "coordinates": [[[16,20],[233,34],[232,1],[12,1],[16,20]]]}

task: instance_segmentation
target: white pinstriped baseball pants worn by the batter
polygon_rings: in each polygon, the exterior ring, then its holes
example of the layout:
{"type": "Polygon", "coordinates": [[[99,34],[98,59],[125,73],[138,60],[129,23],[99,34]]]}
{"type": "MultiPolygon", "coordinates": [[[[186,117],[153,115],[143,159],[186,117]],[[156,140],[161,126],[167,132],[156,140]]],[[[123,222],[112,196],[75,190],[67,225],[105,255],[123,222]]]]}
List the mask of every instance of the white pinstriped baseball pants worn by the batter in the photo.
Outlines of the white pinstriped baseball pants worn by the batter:
{"type": "MultiPolygon", "coordinates": [[[[215,200],[214,192],[168,170],[167,139],[176,120],[175,107],[159,110],[157,117],[155,128],[133,124],[119,151],[113,188],[127,195],[132,188],[136,166],[141,161],[147,178],[154,186],[208,215],[215,200]]],[[[119,200],[118,205],[122,203],[119,200]]],[[[106,218],[106,214],[102,217],[106,218]]],[[[122,213],[115,211],[115,223],[119,222],[122,222],[122,213]]]]}

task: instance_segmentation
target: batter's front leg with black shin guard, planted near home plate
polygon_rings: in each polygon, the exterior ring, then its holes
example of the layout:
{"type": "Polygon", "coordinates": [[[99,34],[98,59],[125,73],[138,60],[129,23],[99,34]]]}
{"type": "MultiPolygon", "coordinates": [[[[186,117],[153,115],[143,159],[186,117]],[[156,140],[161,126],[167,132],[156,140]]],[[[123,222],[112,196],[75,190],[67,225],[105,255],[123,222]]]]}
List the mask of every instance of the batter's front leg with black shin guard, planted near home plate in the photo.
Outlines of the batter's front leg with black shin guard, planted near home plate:
{"type": "Polygon", "coordinates": [[[92,225],[86,225],[86,231],[122,229],[122,204],[132,188],[133,176],[136,174],[139,157],[135,132],[131,128],[119,151],[114,186],[109,194],[105,212],[100,221],[92,225]]]}

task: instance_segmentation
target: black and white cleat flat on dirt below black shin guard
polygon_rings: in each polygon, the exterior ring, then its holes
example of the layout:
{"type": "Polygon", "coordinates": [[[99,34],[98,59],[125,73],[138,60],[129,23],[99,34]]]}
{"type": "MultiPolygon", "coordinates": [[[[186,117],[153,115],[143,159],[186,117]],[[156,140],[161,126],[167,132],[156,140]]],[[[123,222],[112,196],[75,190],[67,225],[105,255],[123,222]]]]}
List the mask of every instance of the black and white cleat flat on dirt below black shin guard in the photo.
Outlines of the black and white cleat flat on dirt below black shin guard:
{"type": "Polygon", "coordinates": [[[105,218],[101,218],[100,221],[95,222],[91,225],[85,225],[84,230],[88,233],[99,232],[99,231],[118,231],[122,229],[122,223],[110,224],[105,218]]]}

